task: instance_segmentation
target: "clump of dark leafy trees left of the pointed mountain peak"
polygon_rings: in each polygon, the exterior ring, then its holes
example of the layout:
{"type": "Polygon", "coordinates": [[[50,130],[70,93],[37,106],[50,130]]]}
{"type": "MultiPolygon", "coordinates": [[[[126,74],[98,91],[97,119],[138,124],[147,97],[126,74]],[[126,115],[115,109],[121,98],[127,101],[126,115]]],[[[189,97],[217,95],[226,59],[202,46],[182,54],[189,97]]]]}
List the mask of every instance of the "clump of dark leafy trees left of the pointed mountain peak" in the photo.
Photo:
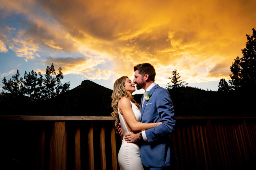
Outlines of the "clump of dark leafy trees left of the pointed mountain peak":
{"type": "MultiPolygon", "coordinates": [[[[54,97],[58,94],[65,93],[70,88],[70,82],[66,82],[63,85],[61,80],[63,79],[62,69],[59,68],[59,72],[55,72],[53,63],[51,67],[47,66],[45,79],[43,78],[41,72],[24,73],[24,80],[22,77],[19,79],[19,70],[17,70],[16,75],[13,79],[6,80],[3,79],[3,89],[8,90],[11,94],[22,94],[34,98],[36,100],[45,100],[54,97]],[[38,77],[39,75],[39,77],[38,77]]],[[[6,93],[3,90],[3,93],[6,93]]]]}

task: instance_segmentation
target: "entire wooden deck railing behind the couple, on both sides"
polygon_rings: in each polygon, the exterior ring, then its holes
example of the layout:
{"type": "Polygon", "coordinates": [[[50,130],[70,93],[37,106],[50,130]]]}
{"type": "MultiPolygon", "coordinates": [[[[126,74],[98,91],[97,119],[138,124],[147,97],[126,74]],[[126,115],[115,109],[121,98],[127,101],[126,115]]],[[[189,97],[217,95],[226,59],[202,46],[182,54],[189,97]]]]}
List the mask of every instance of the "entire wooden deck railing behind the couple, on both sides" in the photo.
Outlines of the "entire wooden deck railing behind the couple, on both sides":
{"type": "MultiPolygon", "coordinates": [[[[0,116],[0,169],[119,169],[113,124],[112,117],[0,116]]],[[[256,159],[256,117],[176,117],[171,137],[177,169],[249,169],[256,159]]]]}

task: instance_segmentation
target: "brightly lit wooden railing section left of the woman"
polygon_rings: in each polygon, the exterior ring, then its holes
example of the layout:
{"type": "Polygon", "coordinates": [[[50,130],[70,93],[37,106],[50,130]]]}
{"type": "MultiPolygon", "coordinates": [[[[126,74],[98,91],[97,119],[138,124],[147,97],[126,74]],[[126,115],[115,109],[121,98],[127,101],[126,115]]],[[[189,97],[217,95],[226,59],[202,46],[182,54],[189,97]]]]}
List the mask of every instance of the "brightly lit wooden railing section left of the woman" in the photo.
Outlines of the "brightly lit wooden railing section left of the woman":
{"type": "MultiPolygon", "coordinates": [[[[30,128],[37,129],[36,131],[39,133],[39,136],[37,136],[37,169],[67,169],[67,130],[70,130],[70,128],[73,128],[73,130],[71,131],[73,131],[74,134],[73,135],[72,132],[69,133],[69,137],[73,137],[72,140],[74,140],[74,149],[70,149],[74,151],[74,153],[71,153],[74,155],[74,165],[70,165],[68,169],[81,169],[81,162],[86,162],[83,166],[83,169],[94,169],[94,165],[96,165],[98,168],[99,164],[101,169],[106,169],[106,147],[111,147],[112,150],[111,169],[117,169],[115,140],[116,133],[115,130],[112,128],[112,125],[114,124],[113,121],[114,119],[112,116],[0,116],[0,123],[2,125],[1,133],[3,134],[3,131],[8,131],[8,133],[2,135],[2,140],[6,140],[6,138],[12,136],[10,134],[14,134],[17,131],[17,128],[23,128],[24,130],[26,130],[27,128],[29,128],[28,126],[30,126],[30,128]],[[10,125],[15,128],[8,130],[8,128],[6,127],[10,125]],[[81,128],[87,131],[88,134],[88,142],[84,142],[88,143],[88,160],[81,160],[81,128]],[[94,128],[99,129],[99,133],[97,135],[100,137],[100,146],[94,145],[94,128]],[[107,131],[106,138],[105,130],[107,131]],[[46,138],[46,133],[48,133],[48,138],[46,138]],[[111,139],[111,145],[105,146],[105,140],[109,139],[111,139]],[[47,142],[50,143],[48,147],[48,149],[50,150],[48,162],[45,161],[45,158],[48,157],[48,154],[45,154],[45,152],[47,151],[45,149],[45,145],[47,142]],[[94,161],[94,150],[97,148],[100,148],[100,160],[94,161]]],[[[33,136],[35,134],[30,135],[33,136]]],[[[17,140],[20,141],[22,139],[17,140]]],[[[1,144],[1,147],[13,147],[13,145],[5,146],[8,145],[8,143],[1,144]]],[[[20,145],[20,147],[23,146],[20,145]]],[[[1,154],[4,153],[2,152],[1,154]]],[[[87,156],[83,157],[86,159],[87,156]]],[[[97,168],[95,167],[95,169],[97,168]]]]}

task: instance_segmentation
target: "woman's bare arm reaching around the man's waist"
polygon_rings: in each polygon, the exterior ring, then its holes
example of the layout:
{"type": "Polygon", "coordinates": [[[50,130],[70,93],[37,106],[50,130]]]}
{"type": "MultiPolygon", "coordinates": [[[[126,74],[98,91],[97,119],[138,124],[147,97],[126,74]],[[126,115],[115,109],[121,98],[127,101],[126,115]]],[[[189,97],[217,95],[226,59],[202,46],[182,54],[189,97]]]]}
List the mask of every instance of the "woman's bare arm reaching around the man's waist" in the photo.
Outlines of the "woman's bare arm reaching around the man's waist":
{"type": "Polygon", "coordinates": [[[126,123],[129,125],[129,127],[132,129],[132,131],[142,131],[146,129],[150,129],[152,127],[158,126],[162,124],[162,122],[158,123],[141,123],[136,121],[136,117],[132,111],[132,104],[130,100],[126,97],[123,97],[118,102],[118,107],[124,116],[124,119],[126,123]]]}

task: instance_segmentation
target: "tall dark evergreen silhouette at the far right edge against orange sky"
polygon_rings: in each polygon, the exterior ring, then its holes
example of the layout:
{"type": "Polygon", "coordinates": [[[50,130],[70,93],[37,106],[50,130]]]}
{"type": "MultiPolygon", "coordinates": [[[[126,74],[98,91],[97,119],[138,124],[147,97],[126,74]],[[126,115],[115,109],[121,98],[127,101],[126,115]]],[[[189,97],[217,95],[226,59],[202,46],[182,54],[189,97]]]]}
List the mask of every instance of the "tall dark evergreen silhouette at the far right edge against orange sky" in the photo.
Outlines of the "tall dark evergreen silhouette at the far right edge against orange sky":
{"type": "Polygon", "coordinates": [[[254,89],[256,86],[256,30],[252,35],[246,34],[246,48],[242,49],[243,57],[234,59],[230,67],[230,84],[233,89],[254,89]]]}

